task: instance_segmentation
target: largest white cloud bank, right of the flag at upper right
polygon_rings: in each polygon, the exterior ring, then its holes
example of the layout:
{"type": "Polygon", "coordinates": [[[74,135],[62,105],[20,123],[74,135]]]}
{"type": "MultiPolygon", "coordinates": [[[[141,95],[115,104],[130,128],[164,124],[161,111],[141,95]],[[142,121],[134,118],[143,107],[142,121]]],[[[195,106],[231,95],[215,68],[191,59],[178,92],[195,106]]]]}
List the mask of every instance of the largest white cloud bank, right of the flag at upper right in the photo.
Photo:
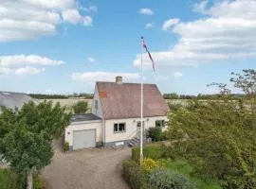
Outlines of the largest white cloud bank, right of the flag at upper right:
{"type": "MultiPolygon", "coordinates": [[[[256,1],[216,1],[211,6],[203,2],[197,7],[201,19],[179,22],[171,30],[179,36],[174,47],[152,52],[157,67],[256,58],[256,1]]],[[[134,65],[139,62],[137,55],[134,65]]],[[[145,59],[145,64],[150,60],[145,59]]]]}

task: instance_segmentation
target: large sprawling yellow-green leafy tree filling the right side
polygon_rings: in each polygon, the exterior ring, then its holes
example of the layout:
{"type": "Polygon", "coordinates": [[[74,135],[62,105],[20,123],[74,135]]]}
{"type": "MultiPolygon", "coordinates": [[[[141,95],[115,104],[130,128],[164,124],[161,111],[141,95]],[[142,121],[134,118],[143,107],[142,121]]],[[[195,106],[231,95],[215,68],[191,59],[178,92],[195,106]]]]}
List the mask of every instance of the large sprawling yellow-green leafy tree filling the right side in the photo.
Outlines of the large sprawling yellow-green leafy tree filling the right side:
{"type": "Polygon", "coordinates": [[[193,164],[195,174],[224,188],[256,188],[255,71],[233,76],[247,99],[234,101],[226,84],[212,83],[220,100],[193,100],[171,112],[167,135],[179,140],[174,149],[193,164]]]}

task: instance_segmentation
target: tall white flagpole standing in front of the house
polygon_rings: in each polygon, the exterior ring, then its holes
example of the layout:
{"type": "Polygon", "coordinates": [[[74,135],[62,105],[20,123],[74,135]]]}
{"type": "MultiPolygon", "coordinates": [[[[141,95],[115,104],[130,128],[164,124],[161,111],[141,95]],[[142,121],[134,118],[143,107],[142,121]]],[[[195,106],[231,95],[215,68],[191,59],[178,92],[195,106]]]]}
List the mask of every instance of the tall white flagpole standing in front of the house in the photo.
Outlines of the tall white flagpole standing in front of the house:
{"type": "Polygon", "coordinates": [[[141,37],[141,87],[140,87],[140,165],[143,164],[143,37],[141,37]]]}

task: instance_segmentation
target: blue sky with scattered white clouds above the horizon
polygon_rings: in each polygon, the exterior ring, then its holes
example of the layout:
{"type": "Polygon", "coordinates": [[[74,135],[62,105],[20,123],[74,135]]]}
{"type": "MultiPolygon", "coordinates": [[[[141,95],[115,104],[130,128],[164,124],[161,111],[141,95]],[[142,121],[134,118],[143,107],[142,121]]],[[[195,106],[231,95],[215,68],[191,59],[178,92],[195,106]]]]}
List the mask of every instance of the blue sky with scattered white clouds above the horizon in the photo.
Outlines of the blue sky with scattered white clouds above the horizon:
{"type": "MultiPolygon", "coordinates": [[[[93,93],[95,81],[212,94],[256,68],[255,0],[1,0],[0,91],[93,93]]],[[[234,89],[234,92],[236,90],[234,89]]]]}

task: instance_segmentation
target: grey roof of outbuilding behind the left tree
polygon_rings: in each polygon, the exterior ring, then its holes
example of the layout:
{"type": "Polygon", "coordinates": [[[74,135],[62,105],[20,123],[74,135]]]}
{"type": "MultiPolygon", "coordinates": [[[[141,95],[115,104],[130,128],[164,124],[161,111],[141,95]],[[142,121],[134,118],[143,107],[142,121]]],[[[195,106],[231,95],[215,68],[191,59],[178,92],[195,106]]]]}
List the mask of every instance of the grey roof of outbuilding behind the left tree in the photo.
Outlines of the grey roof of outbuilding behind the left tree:
{"type": "Polygon", "coordinates": [[[20,109],[29,100],[32,100],[32,98],[27,94],[0,92],[0,106],[9,109],[20,109]]]}

